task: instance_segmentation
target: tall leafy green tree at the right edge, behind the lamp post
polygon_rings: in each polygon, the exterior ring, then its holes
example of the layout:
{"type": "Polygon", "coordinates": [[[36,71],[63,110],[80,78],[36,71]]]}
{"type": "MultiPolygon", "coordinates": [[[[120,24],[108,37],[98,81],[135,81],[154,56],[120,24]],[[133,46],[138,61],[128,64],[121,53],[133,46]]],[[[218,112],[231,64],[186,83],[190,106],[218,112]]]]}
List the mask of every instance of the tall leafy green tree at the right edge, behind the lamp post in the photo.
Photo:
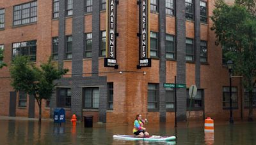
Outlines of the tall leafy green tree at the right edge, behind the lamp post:
{"type": "Polygon", "coordinates": [[[243,86],[249,92],[248,120],[252,121],[252,91],[256,83],[256,16],[253,9],[248,10],[252,6],[239,2],[228,6],[223,0],[217,0],[211,29],[215,31],[216,42],[223,47],[225,57],[234,62],[234,73],[243,76],[243,86]]]}

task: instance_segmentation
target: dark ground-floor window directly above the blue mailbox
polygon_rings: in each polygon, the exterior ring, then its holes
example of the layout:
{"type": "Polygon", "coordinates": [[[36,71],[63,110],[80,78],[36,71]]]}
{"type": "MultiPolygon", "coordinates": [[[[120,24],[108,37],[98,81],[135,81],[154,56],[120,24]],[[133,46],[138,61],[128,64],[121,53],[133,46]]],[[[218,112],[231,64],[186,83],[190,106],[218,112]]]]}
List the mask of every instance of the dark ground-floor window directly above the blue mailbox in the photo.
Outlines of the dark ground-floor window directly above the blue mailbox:
{"type": "Polygon", "coordinates": [[[57,107],[71,107],[71,88],[57,88],[57,107]]]}

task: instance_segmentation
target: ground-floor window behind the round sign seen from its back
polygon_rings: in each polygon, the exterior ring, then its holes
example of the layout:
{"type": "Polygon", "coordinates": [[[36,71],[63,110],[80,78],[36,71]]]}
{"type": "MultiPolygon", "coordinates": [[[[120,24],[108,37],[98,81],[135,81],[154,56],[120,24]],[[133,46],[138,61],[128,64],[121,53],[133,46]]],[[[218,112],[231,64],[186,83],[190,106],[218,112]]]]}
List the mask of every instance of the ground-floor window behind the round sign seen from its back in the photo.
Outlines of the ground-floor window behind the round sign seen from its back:
{"type": "MultiPolygon", "coordinates": [[[[203,109],[204,89],[198,89],[195,97],[191,100],[191,109],[203,109]]],[[[190,107],[189,89],[187,89],[187,108],[190,107]]]]}

